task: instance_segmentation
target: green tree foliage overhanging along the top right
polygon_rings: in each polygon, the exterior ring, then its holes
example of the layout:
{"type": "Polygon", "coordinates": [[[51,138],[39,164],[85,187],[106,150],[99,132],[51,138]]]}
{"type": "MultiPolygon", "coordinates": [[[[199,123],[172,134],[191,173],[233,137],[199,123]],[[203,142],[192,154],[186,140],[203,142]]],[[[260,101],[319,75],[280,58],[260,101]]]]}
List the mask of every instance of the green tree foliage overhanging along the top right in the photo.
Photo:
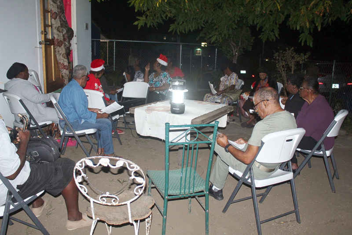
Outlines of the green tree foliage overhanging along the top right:
{"type": "Polygon", "coordinates": [[[299,41],[313,45],[312,32],[336,19],[351,19],[352,0],[129,0],[141,15],[138,27],[157,27],[171,21],[169,31],[187,33],[208,29],[211,43],[233,37],[237,28],[256,26],[263,41],[274,41],[279,26],[298,30],[299,41]],[[211,30],[209,30],[211,29],[211,30]]]}

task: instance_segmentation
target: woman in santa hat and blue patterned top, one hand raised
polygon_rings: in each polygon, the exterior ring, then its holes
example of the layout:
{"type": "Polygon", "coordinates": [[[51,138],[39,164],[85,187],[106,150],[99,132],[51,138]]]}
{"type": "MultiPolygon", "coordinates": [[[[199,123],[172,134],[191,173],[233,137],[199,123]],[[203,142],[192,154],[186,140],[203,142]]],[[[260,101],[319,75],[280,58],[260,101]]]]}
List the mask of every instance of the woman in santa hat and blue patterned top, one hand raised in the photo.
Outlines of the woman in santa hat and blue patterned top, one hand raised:
{"type": "Polygon", "coordinates": [[[165,72],[168,66],[168,58],[160,54],[153,64],[155,72],[149,75],[150,64],[145,66],[144,82],[149,84],[149,91],[147,103],[164,100],[166,98],[166,91],[170,87],[170,74],[165,72]]]}

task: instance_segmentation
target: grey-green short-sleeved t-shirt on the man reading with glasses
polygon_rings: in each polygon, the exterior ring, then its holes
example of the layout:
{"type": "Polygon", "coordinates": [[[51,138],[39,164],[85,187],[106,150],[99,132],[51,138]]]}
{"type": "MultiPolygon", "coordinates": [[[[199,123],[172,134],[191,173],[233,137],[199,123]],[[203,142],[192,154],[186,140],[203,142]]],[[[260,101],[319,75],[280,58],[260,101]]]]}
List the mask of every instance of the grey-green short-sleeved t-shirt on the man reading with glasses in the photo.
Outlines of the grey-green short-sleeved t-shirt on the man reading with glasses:
{"type": "Polygon", "coordinates": [[[251,138],[248,140],[248,144],[259,147],[262,143],[262,138],[265,135],[276,131],[284,131],[295,128],[297,128],[296,119],[288,111],[272,113],[254,126],[251,138]]]}

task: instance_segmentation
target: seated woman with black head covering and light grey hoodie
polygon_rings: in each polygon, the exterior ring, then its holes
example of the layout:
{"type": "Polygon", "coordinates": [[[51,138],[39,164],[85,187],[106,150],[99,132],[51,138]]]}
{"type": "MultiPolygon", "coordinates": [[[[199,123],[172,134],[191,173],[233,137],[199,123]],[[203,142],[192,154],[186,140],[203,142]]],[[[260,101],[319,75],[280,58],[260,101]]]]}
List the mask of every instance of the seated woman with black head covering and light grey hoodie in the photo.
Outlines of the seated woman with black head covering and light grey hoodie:
{"type": "MultiPolygon", "coordinates": [[[[59,122],[54,108],[46,107],[45,102],[50,101],[50,94],[42,94],[39,89],[28,81],[29,73],[25,64],[14,63],[7,70],[6,76],[10,81],[5,83],[5,89],[18,95],[27,106],[37,122],[59,122]]],[[[15,115],[19,121],[19,117],[15,115]]]]}

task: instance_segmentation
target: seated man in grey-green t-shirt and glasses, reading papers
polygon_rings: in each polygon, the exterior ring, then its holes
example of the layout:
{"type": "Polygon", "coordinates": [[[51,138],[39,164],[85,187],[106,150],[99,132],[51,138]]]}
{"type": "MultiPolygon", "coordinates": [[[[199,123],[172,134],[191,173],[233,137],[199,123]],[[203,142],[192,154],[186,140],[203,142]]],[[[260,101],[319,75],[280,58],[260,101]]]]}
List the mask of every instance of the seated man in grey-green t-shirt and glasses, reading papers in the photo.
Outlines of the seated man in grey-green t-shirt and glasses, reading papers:
{"type": "MultiPolygon", "coordinates": [[[[266,87],[259,89],[253,97],[254,109],[262,118],[252,131],[248,141],[239,138],[235,142],[246,144],[243,149],[237,149],[228,143],[226,135],[220,134],[216,138],[215,152],[218,157],[210,174],[209,195],[216,200],[224,199],[222,188],[228,174],[228,167],[244,172],[247,164],[251,163],[257,155],[262,138],[276,131],[297,128],[296,120],[291,113],[281,108],[279,95],[276,89],[266,87]]],[[[253,172],[257,179],[266,178],[279,168],[279,163],[254,162],[253,172]]]]}

